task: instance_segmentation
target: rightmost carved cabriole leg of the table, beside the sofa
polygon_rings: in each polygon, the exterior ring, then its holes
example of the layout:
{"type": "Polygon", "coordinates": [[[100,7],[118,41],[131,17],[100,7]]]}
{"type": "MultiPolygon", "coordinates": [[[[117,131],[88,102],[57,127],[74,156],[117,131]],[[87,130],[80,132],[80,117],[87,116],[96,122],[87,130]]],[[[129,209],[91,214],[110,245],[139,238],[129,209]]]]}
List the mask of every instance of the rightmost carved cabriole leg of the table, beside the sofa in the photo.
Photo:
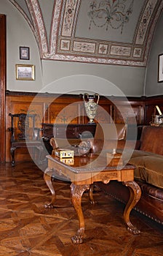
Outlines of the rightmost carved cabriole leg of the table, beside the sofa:
{"type": "Polygon", "coordinates": [[[129,187],[130,189],[130,199],[124,209],[124,222],[127,225],[127,230],[129,230],[130,233],[137,235],[140,233],[140,230],[134,227],[130,222],[130,211],[138,203],[138,200],[141,196],[141,190],[139,185],[135,181],[126,181],[124,182],[124,185],[129,187]]]}

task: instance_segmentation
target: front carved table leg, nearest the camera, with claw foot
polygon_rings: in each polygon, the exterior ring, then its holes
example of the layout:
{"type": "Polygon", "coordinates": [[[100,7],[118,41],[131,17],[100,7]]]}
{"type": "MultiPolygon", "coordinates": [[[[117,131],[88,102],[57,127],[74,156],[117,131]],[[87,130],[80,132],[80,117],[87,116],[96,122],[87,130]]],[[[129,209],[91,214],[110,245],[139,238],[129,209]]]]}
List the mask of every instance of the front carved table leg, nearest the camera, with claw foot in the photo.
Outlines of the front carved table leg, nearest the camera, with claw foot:
{"type": "Polygon", "coordinates": [[[75,236],[71,237],[73,244],[81,244],[84,237],[84,216],[81,209],[81,197],[86,189],[89,189],[90,185],[75,185],[71,184],[71,197],[73,207],[76,210],[76,213],[79,218],[79,230],[75,236]]]}

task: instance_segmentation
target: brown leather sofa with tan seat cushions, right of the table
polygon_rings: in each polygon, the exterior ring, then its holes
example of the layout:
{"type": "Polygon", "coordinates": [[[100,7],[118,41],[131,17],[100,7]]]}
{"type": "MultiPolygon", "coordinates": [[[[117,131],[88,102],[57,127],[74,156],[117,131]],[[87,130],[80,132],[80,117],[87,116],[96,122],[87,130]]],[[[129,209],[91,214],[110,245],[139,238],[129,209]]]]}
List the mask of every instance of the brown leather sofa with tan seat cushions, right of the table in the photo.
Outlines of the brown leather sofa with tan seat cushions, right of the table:
{"type": "MultiPolygon", "coordinates": [[[[95,139],[92,140],[92,150],[101,151],[104,140],[97,129],[95,139]]],[[[116,151],[125,151],[124,162],[135,165],[135,181],[142,191],[135,210],[163,225],[163,127],[143,127],[140,141],[128,141],[126,148],[125,143],[125,138],[118,138],[116,151]]],[[[114,140],[105,141],[105,150],[113,147],[114,140]]],[[[129,190],[121,182],[98,183],[98,187],[122,203],[129,200],[129,190]]]]}

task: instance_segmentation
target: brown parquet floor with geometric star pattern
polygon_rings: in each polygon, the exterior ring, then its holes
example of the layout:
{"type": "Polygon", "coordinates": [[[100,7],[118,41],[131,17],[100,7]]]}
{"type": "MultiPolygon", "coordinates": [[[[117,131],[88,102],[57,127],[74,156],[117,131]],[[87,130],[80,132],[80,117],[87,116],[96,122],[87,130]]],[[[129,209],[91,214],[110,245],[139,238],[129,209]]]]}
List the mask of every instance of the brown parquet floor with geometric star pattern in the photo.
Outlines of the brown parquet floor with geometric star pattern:
{"type": "Polygon", "coordinates": [[[0,167],[0,256],[161,256],[163,230],[150,219],[132,211],[131,220],[142,233],[127,232],[124,205],[95,189],[97,204],[82,198],[85,218],[84,243],[73,245],[78,229],[68,183],[55,182],[57,205],[44,208],[51,199],[43,172],[33,163],[0,167]]]}

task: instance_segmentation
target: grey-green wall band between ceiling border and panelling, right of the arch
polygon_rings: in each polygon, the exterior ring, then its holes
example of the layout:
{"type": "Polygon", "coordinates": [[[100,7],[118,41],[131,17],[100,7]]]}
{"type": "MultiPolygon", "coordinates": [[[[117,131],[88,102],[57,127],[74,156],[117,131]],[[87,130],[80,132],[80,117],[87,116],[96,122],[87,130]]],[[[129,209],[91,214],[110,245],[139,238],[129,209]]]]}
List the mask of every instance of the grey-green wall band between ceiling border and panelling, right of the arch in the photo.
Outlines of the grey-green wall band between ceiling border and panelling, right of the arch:
{"type": "Polygon", "coordinates": [[[81,64],[63,61],[42,61],[45,91],[57,93],[90,90],[103,95],[141,96],[144,69],[103,64],[81,64]],[[65,78],[65,79],[61,79],[65,78]],[[108,83],[106,83],[108,81],[108,83]],[[113,90],[114,84],[121,91],[113,90]],[[48,90],[47,90],[48,88],[48,90]]]}

